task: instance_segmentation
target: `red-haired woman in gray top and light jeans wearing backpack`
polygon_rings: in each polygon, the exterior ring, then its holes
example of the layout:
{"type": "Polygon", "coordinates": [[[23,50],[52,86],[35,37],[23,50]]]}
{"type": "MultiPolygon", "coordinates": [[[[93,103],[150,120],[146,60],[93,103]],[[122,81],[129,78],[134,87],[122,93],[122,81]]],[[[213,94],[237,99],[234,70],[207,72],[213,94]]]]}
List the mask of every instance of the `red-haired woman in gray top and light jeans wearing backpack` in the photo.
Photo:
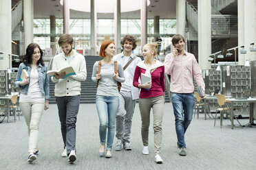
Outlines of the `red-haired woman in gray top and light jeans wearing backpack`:
{"type": "Polygon", "coordinates": [[[100,73],[98,74],[98,63],[95,62],[92,72],[92,80],[98,82],[96,93],[96,108],[100,121],[100,157],[111,158],[111,148],[115,135],[116,114],[119,107],[119,93],[117,82],[125,82],[122,65],[117,63],[117,72],[114,73],[115,45],[112,41],[104,41],[100,47],[101,60],[100,73]],[[105,143],[107,136],[107,151],[105,143]]]}

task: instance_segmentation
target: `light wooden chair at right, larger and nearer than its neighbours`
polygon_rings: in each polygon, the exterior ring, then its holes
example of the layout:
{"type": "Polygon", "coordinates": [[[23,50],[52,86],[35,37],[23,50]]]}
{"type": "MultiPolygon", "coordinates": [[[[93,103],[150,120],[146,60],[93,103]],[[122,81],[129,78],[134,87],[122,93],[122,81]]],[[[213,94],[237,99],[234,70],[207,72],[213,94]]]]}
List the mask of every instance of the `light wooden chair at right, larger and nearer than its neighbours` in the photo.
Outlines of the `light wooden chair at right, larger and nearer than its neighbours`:
{"type": "MultiPolygon", "coordinates": [[[[219,105],[220,108],[216,109],[214,126],[215,126],[215,123],[216,123],[217,111],[220,111],[220,128],[222,128],[224,112],[226,112],[226,114],[228,114],[227,110],[231,110],[231,108],[229,108],[228,105],[226,104],[226,97],[224,95],[216,94],[216,96],[217,96],[217,104],[219,105]]],[[[234,108],[234,110],[238,110],[238,109],[239,108],[234,108]]],[[[235,115],[234,115],[234,117],[235,117],[235,115]]],[[[241,123],[238,121],[238,119],[236,117],[235,117],[235,119],[237,120],[239,125],[242,126],[241,123]]]]}

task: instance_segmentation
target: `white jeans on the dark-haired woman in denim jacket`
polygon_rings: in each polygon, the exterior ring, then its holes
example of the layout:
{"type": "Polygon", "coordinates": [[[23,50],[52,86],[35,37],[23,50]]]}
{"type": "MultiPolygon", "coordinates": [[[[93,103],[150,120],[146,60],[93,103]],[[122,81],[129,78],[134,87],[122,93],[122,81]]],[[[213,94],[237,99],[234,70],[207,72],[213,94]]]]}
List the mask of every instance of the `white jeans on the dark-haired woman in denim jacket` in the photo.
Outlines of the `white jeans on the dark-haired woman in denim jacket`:
{"type": "Polygon", "coordinates": [[[39,139],[39,123],[43,114],[45,103],[21,102],[19,103],[25,123],[28,126],[28,152],[34,152],[39,139]]]}

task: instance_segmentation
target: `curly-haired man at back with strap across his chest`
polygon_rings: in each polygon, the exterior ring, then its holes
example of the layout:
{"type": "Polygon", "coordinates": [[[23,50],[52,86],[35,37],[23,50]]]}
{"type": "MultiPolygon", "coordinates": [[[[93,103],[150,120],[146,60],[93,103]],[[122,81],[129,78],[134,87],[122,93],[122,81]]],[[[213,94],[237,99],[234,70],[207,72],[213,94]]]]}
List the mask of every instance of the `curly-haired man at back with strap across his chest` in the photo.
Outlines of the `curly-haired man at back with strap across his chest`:
{"type": "Polygon", "coordinates": [[[114,56],[114,60],[122,64],[125,73],[125,82],[122,83],[122,88],[119,93],[120,105],[116,116],[116,151],[120,151],[122,145],[125,150],[131,150],[129,141],[131,135],[131,121],[139,93],[138,88],[133,86],[134,71],[138,62],[141,62],[141,59],[137,58],[137,56],[132,53],[137,47],[137,40],[134,36],[126,35],[122,38],[120,43],[123,51],[114,56]]]}

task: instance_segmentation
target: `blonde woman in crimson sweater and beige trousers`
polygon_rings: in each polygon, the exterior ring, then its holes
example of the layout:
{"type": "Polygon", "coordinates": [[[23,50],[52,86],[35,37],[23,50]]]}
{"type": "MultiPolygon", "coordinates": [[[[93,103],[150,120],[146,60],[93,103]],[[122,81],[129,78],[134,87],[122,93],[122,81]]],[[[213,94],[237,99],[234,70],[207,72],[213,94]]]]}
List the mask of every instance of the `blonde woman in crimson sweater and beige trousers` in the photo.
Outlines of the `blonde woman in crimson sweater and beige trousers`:
{"type": "Polygon", "coordinates": [[[142,49],[142,56],[145,60],[139,62],[134,73],[134,86],[140,88],[140,116],[142,120],[141,135],[144,145],[142,154],[149,154],[149,124],[150,110],[153,109],[153,131],[155,145],[155,161],[162,163],[160,149],[162,143],[162,116],[164,108],[164,64],[154,57],[157,52],[157,44],[147,44],[142,49]],[[151,77],[151,82],[140,84],[138,79],[141,74],[151,77]]]}

